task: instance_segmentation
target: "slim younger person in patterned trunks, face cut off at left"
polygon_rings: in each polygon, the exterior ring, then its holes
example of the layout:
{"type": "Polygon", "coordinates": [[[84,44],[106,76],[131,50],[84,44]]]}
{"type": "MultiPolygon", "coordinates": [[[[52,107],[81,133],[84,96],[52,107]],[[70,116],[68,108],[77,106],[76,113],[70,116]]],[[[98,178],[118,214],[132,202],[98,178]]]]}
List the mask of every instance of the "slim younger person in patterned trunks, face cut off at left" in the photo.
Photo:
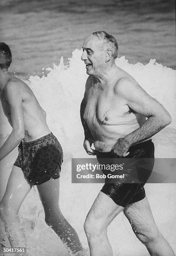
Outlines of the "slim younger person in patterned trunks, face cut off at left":
{"type": "Polygon", "coordinates": [[[58,204],[62,147],[50,132],[46,113],[30,87],[7,72],[11,61],[9,47],[0,42],[0,97],[12,126],[12,132],[0,148],[0,160],[20,143],[19,155],[0,202],[0,217],[7,237],[12,247],[26,247],[17,214],[32,186],[37,185],[47,225],[73,253],[82,251],[77,233],[62,215],[58,204]]]}

